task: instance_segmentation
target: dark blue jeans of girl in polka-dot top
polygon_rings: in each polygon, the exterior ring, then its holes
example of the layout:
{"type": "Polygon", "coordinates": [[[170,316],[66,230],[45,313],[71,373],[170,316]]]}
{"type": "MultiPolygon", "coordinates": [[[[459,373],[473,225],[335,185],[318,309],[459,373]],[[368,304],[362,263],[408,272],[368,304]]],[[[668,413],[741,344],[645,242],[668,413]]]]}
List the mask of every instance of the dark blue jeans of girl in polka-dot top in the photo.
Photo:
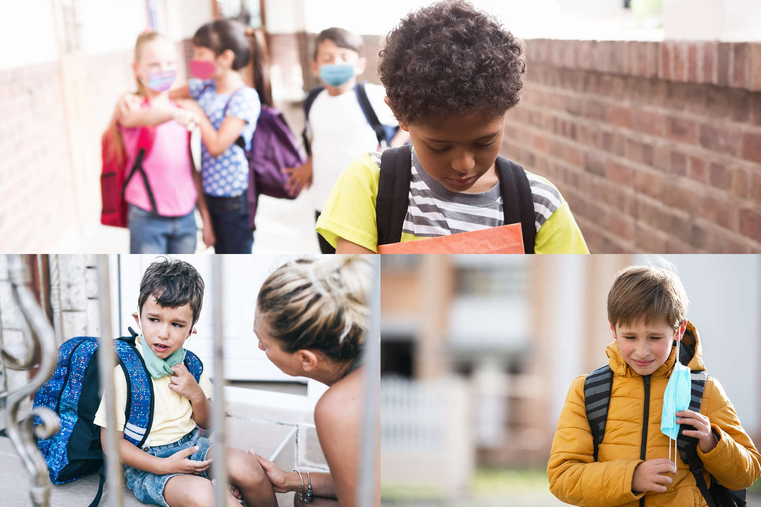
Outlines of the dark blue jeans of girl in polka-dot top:
{"type": "Polygon", "coordinates": [[[251,253],[253,230],[248,223],[246,192],[238,197],[206,195],[217,242],[214,253],[251,253]]]}

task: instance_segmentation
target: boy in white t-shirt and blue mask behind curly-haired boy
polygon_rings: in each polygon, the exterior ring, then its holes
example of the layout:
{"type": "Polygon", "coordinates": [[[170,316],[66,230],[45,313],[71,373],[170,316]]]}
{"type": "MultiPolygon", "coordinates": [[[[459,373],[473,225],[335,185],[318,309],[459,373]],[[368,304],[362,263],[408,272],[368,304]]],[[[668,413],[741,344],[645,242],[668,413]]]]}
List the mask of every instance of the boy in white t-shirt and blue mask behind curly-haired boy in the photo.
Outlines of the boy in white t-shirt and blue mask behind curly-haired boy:
{"type": "MultiPolygon", "coordinates": [[[[342,28],[328,28],[320,32],[314,46],[311,68],[324,87],[310,92],[310,95],[317,93],[317,96],[312,96],[314,101],[307,99],[305,103],[307,128],[312,135],[310,157],[303,166],[284,171],[291,175],[287,187],[292,192],[304,186],[312,187],[317,218],[333,183],[346,166],[361,154],[381,148],[358,98],[361,92],[357,90],[357,76],[365,72],[368,64],[367,59],[360,56],[365,46],[362,37],[342,28]]],[[[364,87],[380,124],[398,127],[399,122],[384,101],[386,89],[368,83],[364,87]]],[[[399,129],[390,138],[389,146],[401,146],[407,141],[409,133],[399,129]]],[[[323,236],[318,234],[317,237],[323,253],[336,253],[323,236]]]]}

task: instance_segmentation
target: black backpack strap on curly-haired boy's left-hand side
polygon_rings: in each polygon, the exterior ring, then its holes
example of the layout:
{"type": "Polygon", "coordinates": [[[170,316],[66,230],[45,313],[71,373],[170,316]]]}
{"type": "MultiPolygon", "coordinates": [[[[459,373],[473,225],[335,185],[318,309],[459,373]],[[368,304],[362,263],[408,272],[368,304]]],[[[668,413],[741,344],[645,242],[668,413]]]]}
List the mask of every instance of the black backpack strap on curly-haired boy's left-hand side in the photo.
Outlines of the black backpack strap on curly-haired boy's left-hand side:
{"type": "Polygon", "coordinates": [[[404,218],[409,208],[411,179],[411,144],[390,148],[381,154],[378,195],[375,198],[378,245],[389,245],[402,240],[404,218]]]}

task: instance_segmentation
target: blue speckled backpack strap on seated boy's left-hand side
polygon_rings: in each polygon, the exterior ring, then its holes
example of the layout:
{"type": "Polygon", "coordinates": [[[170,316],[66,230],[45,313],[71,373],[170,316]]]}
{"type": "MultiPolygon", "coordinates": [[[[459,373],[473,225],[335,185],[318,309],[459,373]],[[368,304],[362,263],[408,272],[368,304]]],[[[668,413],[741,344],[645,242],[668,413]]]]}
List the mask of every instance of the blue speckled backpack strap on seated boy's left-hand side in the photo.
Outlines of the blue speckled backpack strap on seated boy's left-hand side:
{"type": "Polygon", "coordinates": [[[124,414],[124,438],[142,447],[153,424],[154,392],[153,381],[142,356],[135,349],[135,337],[119,338],[113,343],[119,365],[127,381],[127,405],[124,414]]]}

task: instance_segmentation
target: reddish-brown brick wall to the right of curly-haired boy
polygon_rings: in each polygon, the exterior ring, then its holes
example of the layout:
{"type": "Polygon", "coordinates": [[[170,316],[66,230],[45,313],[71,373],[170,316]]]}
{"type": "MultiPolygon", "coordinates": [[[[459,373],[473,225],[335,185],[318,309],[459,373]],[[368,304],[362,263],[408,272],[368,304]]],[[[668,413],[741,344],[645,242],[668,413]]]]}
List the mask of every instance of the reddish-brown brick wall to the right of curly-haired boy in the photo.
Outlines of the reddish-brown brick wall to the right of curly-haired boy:
{"type": "Polygon", "coordinates": [[[591,252],[761,252],[761,45],[529,40],[503,154],[591,252]]]}

